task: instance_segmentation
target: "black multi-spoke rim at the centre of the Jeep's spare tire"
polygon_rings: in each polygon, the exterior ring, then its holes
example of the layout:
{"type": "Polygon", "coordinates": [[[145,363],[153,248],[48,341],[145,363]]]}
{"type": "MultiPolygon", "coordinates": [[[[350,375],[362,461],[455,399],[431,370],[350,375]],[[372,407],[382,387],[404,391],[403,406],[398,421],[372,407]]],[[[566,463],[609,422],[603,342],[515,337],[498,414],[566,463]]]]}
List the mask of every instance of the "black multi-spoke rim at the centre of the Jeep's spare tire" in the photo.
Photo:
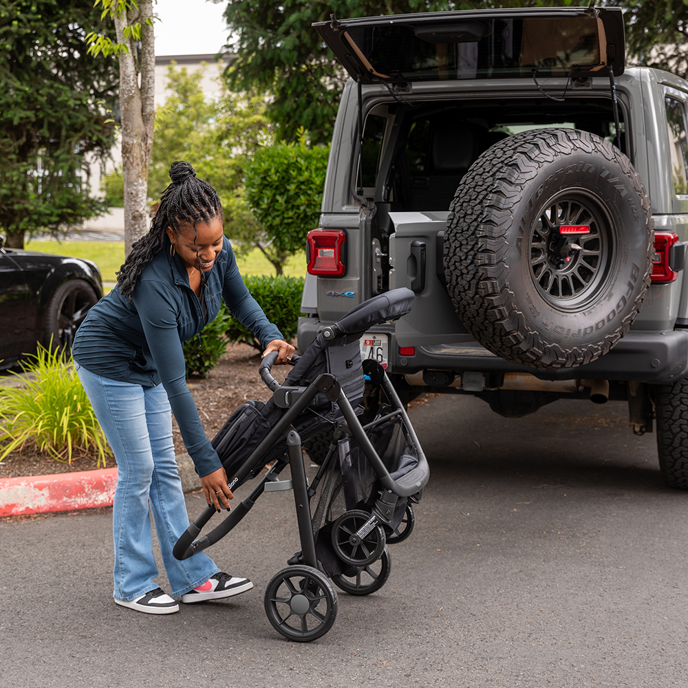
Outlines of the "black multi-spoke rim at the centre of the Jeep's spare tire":
{"type": "Polygon", "coordinates": [[[614,267],[616,230],[600,200],[567,189],[541,207],[528,237],[530,277],[541,298],[562,311],[577,311],[599,298],[614,267]],[[588,234],[562,237],[561,226],[587,226],[588,234]],[[562,245],[570,248],[561,254],[562,245]],[[568,257],[568,260],[566,259],[568,257]]]}

